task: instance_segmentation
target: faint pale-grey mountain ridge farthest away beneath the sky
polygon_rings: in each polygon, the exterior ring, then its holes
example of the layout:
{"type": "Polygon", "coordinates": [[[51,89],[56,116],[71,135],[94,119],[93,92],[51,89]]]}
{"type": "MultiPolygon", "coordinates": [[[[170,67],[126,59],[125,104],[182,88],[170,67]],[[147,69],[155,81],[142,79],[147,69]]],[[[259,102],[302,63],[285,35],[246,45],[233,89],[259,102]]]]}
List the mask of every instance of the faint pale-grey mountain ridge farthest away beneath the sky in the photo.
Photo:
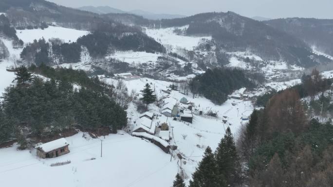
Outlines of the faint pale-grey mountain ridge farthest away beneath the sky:
{"type": "Polygon", "coordinates": [[[175,14],[155,14],[155,13],[151,13],[151,12],[147,12],[147,11],[143,11],[143,10],[132,10],[132,11],[123,11],[120,9],[116,9],[116,8],[112,8],[110,6],[83,6],[83,7],[79,7],[77,8],[79,10],[84,10],[84,11],[89,11],[89,12],[93,12],[96,14],[134,14],[137,16],[142,16],[144,18],[147,19],[153,19],[153,20],[157,20],[157,19],[173,19],[173,18],[181,18],[181,17],[186,17],[184,15],[175,15],[175,14]]]}

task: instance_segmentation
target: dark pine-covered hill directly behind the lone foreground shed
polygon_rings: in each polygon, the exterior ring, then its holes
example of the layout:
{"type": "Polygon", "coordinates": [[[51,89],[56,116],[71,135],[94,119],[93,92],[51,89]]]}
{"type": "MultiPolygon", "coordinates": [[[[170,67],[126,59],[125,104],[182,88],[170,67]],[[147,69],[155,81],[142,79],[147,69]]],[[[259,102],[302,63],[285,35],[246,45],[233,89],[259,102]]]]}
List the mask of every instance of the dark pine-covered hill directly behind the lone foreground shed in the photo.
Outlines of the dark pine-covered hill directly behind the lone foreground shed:
{"type": "Polygon", "coordinates": [[[88,78],[83,71],[41,65],[17,69],[17,85],[3,94],[0,142],[21,136],[47,136],[65,129],[111,132],[127,124],[124,108],[116,103],[112,87],[88,78]],[[45,77],[32,76],[38,72],[45,77]]]}

